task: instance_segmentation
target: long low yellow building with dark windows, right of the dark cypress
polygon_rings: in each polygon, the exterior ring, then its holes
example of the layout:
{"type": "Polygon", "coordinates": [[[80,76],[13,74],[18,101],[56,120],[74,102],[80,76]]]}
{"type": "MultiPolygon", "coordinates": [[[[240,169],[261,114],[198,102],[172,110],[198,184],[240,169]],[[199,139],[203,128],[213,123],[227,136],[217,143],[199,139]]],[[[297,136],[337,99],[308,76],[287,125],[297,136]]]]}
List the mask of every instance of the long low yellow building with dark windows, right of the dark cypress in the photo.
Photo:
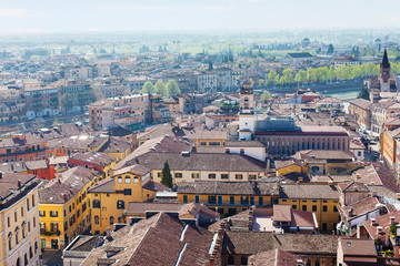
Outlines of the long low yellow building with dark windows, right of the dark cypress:
{"type": "Polygon", "coordinates": [[[203,203],[222,218],[252,205],[272,207],[279,197],[278,185],[271,182],[182,182],[177,191],[179,203],[203,203]]]}

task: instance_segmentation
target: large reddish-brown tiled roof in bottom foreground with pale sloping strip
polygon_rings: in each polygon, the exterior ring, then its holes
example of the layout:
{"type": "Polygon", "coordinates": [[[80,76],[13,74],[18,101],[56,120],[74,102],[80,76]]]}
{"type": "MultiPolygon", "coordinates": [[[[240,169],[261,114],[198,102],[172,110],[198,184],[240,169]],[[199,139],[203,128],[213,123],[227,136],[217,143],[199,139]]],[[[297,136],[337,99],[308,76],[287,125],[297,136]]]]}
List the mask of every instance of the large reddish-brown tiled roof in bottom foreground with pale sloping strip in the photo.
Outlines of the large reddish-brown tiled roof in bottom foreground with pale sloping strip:
{"type": "Polygon", "coordinates": [[[96,265],[107,258],[111,246],[123,248],[109,257],[113,265],[204,265],[209,262],[212,236],[201,227],[160,213],[113,233],[112,239],[94,248],[82,265],[96,265]]]}

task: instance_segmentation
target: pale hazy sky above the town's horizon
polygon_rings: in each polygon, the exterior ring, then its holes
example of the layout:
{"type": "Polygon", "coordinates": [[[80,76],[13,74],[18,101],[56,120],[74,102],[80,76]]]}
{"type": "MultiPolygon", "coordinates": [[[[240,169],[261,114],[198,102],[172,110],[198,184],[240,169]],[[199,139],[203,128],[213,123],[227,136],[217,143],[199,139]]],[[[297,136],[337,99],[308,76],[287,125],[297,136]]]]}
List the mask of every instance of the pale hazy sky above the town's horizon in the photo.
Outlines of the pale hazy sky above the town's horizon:
{"type": "Polygon", "coordinates": [[[397,28],[400,0],[0,0],[0,34],[397,28]]]}

